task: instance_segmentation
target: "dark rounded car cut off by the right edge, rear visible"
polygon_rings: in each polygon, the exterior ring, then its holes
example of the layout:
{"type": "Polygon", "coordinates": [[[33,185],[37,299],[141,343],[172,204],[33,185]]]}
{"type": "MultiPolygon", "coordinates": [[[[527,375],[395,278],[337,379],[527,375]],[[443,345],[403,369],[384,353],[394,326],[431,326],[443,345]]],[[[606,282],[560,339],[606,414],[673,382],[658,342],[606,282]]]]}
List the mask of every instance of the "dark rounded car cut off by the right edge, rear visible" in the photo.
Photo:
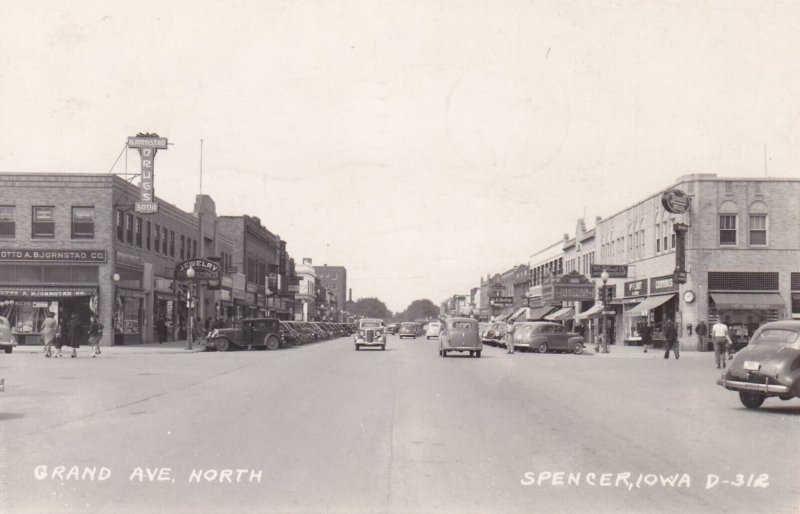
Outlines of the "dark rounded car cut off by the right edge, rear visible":
{"type": "Polygon", "coordinates": [[[800,320],[762,325],[750,343],[736,352],[717,384],[738,391],[748,409],[759,408],[773,396],[800,397],[800,320]]]}

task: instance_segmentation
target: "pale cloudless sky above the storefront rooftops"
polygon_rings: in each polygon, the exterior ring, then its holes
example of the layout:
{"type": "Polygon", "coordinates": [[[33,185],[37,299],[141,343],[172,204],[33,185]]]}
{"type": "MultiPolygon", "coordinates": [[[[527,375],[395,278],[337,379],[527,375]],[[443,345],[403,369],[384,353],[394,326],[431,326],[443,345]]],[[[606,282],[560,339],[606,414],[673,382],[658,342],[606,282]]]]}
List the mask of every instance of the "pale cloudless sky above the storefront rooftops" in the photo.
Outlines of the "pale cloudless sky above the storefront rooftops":
{"type": "Polygon", "coordinates": [[[157,132],[159,197],[258,216],[393,311],[684,174],[800,176],[794,2],[0,0],[0,20],[0,171],[135,172],[126,138],[157,132]]]}

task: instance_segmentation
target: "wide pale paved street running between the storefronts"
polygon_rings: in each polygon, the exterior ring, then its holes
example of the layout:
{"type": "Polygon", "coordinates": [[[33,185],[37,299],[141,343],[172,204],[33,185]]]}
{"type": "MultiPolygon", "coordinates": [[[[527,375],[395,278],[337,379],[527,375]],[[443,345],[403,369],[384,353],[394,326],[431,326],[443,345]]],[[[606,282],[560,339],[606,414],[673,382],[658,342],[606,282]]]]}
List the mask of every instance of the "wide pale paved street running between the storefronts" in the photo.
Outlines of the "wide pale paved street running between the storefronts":
{"type": "Polygon", "coordinates": [[[0,355],[4,512],[800,509],[800,402],[745,410],[710,353],[24,350],[0,355]]]}

